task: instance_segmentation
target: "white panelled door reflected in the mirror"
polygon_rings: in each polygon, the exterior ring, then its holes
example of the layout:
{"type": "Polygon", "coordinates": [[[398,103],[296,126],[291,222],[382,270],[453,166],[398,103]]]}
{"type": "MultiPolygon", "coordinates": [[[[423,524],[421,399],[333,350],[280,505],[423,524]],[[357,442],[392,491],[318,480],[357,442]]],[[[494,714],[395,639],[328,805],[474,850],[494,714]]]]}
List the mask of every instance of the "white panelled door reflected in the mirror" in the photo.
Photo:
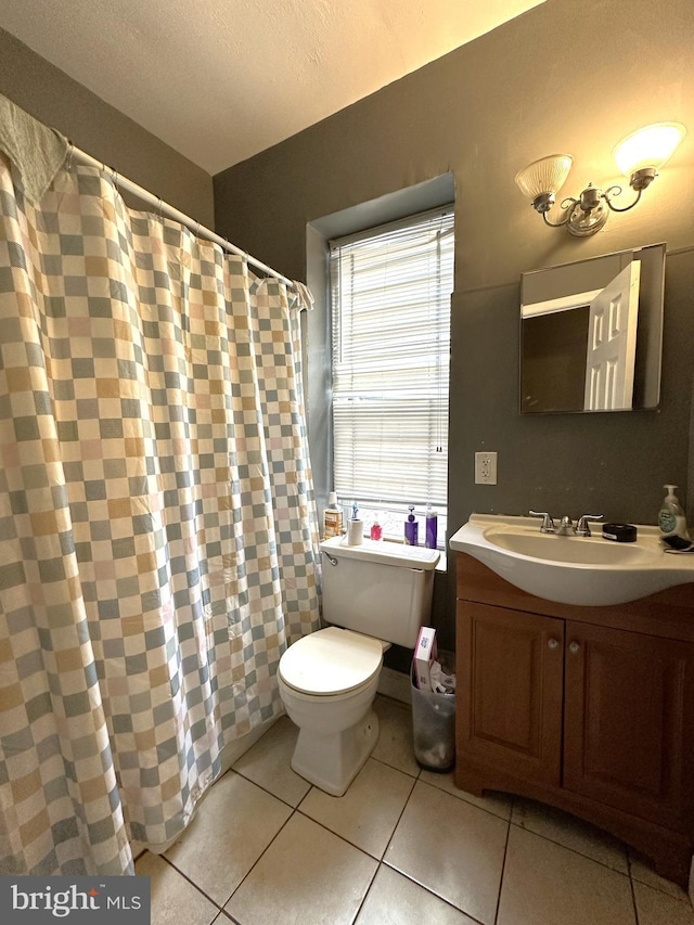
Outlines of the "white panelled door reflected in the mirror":
{"type": "Polygon", "coordinates": [[[591,301],[586,411],[632,406],[641,264],[633,260],[591,301]]]}

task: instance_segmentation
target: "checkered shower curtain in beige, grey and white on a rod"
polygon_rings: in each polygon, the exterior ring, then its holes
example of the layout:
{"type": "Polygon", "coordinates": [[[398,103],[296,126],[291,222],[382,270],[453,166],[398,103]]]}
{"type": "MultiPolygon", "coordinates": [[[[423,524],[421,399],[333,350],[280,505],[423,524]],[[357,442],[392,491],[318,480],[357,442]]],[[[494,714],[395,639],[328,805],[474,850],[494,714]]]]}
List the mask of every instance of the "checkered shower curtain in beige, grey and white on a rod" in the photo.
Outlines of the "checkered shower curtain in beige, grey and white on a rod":
{"type": "Polygon", "coordinates": [[[0,874],[132,873],[318,627],[301,305],[0,156],[0,874]],[[13,182],[14,181],[14,182],[13,182]]]}

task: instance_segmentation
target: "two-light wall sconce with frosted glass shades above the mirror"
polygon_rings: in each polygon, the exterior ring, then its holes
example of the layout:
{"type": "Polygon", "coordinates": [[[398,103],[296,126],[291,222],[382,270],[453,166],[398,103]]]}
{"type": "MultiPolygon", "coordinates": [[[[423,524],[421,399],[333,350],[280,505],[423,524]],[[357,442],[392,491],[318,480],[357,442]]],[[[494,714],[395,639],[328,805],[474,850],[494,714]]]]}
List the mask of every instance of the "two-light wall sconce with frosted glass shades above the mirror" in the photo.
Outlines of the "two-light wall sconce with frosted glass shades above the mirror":
{"type": "Polygon", "coordinates": [[[560,221],[548,219],[547,214],[554,205],[556,193],[571,169],[574,158],[570,154],[550,154],[528,164],[516,175],[516,183],[530,200],[532,208],[540,213],[545,224],[552,228],[566,226],[570,234],[584,237],[600,231],[611,211],[628,211],[635,206],[685,133],[686,129],[679,123],[658,123],[645,126],[619,142],[613,152],[615,160],[621,172],[629,177],[629,185],[637,193],[637,198],[624,208],[613,205],[614,197],[621,193],[621,187],[609,187],[603,191],[589,183],[578,198],[567,196],[562,200],[564,217],[560,221]]]}

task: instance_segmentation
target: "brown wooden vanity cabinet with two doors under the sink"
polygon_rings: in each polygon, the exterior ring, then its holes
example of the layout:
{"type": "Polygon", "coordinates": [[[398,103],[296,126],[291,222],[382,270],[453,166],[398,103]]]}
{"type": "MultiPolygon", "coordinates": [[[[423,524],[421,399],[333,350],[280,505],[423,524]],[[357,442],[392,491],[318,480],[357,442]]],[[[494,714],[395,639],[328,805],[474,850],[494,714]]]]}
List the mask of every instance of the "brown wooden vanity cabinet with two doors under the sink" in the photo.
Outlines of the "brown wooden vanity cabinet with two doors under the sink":
{"type": "Polygon", "coordinates": [[[457,553],[455,783],[556,806],[686,885],[694,853],[694,586],[554,604],[457,553]]]}

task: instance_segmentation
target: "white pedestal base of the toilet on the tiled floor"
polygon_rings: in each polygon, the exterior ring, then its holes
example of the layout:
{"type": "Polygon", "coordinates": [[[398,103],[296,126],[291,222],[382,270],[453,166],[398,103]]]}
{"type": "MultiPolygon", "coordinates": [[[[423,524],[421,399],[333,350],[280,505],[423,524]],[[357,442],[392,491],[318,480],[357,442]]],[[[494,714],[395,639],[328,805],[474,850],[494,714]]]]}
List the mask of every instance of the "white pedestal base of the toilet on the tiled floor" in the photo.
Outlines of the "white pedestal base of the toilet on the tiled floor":
{"type": "Polygon", "coordinates": [[[367,762],[378,741],[378,718],[372,709],[356,725],[321,735],[301,729],[292,770],[310,784],[340,797],[367,762]]]}

